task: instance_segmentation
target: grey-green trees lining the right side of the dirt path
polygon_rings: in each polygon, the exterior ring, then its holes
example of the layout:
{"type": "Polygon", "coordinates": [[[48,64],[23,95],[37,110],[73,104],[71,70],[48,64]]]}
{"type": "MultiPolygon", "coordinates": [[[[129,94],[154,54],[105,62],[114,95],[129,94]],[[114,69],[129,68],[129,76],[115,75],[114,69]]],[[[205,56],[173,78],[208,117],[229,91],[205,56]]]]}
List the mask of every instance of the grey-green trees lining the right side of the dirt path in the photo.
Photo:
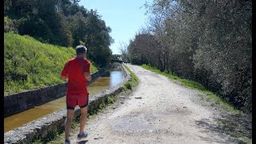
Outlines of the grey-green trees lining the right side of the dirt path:
{"type": "Polygon", "coordinates": [[[146,3],[149,23],[130,41],[130,60],[200,82],[237,108],[251,110],[251,3],[146,3]]]}

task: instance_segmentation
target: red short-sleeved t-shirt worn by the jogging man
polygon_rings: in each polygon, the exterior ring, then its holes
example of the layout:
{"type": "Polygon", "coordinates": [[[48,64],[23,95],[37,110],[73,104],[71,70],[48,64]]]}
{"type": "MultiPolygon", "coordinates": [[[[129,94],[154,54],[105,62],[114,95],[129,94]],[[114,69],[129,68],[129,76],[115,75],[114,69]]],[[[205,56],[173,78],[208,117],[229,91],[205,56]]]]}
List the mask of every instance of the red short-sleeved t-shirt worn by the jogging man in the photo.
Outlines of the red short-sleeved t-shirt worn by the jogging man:
{"type": "Polygon", "coordinates": [[[72,58],[66,62],[62,76],[68,76],[66,95],[87,95],[87,81],[84,72],[90,73],[90,62],[72,58]]]}

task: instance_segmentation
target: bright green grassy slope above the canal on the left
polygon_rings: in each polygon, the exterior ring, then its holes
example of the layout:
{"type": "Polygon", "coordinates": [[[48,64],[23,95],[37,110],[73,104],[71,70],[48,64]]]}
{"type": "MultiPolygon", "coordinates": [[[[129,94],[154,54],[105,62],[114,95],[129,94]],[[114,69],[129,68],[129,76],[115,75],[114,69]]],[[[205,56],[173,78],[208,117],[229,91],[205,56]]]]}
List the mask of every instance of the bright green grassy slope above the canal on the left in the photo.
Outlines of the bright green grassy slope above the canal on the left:
{"type": "MultiPolygon", "coordinates": [[[[62,82],[60,73],[74,58],[72,47],[54,46],[30,36],[4,34],[4,95],[62,82]]],[[[93,64],[90,71],[97,71],[93,64]]]]}

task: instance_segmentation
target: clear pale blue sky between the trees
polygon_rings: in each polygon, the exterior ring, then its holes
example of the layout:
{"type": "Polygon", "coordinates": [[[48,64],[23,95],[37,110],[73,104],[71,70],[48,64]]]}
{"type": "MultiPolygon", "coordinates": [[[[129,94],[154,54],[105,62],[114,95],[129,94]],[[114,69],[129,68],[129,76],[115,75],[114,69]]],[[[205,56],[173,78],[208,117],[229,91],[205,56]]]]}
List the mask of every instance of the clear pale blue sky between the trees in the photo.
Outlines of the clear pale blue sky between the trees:
{"type": "Polygon", "coordinates": [[[113,54],[120,54],[119,42],[128,43],[146,22],[145,2],[152,0],[82,0],[80,6],[86,9],[98,10],[106,26],[110,26],[114,43],[110,46],[113,54]],[[142,7],[142,8],[141,8],[142,7]]]}

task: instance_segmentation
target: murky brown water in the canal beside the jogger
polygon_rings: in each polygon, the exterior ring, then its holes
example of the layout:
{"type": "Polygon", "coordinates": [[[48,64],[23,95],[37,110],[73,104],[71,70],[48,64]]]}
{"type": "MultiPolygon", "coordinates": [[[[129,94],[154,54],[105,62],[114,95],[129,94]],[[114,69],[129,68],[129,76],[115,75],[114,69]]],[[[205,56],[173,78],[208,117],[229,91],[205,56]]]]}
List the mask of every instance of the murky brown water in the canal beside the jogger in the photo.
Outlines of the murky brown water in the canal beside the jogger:
{"type": "MultiPolygon", "coordinates": [[[[91,83],[87,87],[90,96],[94,96],[104,90],[114,87],[121,83],[125,78],[120,67],[112,68],[107,71],[102,77],[98,78],[95,82],[91,83]]],[[[47,102],[41,106],[34,107],[30,110],[25,110],[21,113],[14,114],[10,117],[4,118],[4,132],[13,130],[19,126],[22,126],[28,122],[32,122],[46,114],[51,114],[56,110],[61,110],[66,107],[66,96],[58,98],[54,101],[47,102]]]]}

